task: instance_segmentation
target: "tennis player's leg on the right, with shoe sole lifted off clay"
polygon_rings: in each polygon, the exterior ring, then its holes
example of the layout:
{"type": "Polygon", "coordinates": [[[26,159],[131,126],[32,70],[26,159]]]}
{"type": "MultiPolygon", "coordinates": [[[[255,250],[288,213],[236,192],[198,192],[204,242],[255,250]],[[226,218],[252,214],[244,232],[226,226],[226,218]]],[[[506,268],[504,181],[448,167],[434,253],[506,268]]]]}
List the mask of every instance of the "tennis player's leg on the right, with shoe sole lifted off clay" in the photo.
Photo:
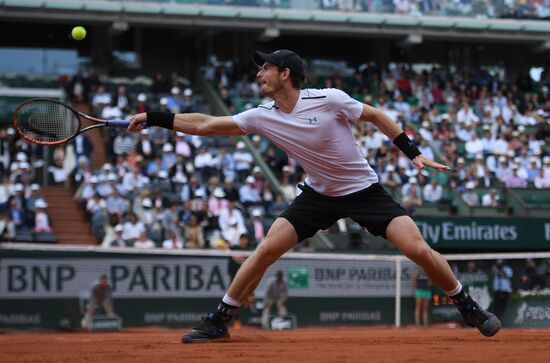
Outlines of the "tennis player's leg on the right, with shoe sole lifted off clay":
{"type": "Polygon", "coordinates": [[[449,295],[468,325],[478,328],[485,336],[493,336],[502,328],[496,316],[481,309],[462,289],[447,261],[428,246],[409,216],[393,218],[386,227],[386,237],[449,295]]]}

